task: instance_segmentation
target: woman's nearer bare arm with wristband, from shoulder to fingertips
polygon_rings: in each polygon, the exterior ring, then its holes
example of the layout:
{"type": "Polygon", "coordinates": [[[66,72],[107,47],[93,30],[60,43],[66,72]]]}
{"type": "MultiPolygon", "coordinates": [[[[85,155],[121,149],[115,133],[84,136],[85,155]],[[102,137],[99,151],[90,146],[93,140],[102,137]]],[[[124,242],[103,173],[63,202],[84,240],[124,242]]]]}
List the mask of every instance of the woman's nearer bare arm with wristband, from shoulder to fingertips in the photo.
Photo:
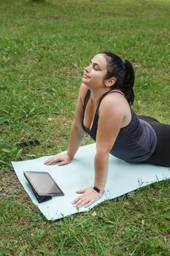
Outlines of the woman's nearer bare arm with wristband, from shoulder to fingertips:
{"type": "Polygon", "coordinates": [[[80,189],[80,197],[73,201],[74,206],[90,206],[98,200],[104,192],[107,182],[109,152],[115,143],[125,117],[123,102],[117,97],[106,97],[102,100],[99,110],[98,130],[96,134],[96,156],[94,158],[95,180],[94,187],[100,189],[96,192],[93,187],[80,189]]]}

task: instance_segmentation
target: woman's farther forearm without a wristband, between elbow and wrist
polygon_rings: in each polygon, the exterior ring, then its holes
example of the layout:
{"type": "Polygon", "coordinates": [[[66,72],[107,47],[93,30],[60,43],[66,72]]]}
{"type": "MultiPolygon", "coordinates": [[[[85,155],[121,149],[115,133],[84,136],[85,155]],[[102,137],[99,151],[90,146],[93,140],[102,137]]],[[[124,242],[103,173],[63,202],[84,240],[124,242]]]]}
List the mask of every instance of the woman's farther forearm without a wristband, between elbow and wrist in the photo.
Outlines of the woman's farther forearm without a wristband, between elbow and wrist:
{"type": "Polygon", "coordinates": [[[67,149],[67,154],[71,159],[74,158],[74,154],[76,154],[77,149],[80,147],[84,135],[85,132],[82,129],[77,129],[74,127],[74,124],[72,124],[70,130],[69,147],[67,149]]]}

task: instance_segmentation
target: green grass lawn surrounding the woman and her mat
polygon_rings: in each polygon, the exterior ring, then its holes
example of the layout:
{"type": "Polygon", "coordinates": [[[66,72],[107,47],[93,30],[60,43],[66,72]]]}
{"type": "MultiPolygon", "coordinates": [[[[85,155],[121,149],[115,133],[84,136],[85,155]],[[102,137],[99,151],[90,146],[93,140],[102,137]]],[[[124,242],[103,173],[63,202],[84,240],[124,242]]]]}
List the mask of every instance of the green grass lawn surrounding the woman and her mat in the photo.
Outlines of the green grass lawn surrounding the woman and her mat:
{"type": "Polygon", "coordinates": [[[169,181],[48,222],[10,161],[66,150],[83,68],[103,50],[134,64],[134,110],[170,123],[170,2],[0,0],[0,6],[0,255],[169,256],[169,181]],[[15,146],[33,139],[41,145],[15,146]]]}

